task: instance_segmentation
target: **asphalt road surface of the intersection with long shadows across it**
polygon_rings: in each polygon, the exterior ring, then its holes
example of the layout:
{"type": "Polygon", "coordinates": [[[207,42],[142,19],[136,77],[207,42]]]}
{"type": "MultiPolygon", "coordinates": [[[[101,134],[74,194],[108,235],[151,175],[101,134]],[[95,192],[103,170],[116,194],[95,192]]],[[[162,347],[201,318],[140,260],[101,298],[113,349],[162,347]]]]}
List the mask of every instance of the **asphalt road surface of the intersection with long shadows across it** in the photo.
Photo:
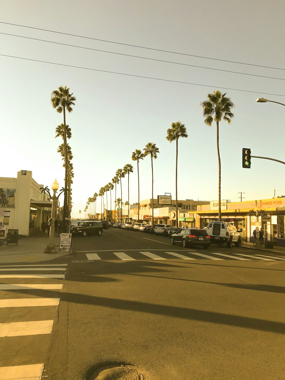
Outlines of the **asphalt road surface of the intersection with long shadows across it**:
{"type": "MultiPolygon", "coordinates": [[[[184,249],[120,229],[75,237],[73,252],[52,261],[68,264],[62,290],[44,291],[60,297],[59,308],[38,314],[54,318],[52,334],[23,346],[22,337],[0,338],[9,344],[2,365],[34,355],[52,380],[89,379],[113,363],[136,365],[149,380],[284,379],[285,257],[234,246],[184,249]],[[22,351],[11,360],[16,347],[22,351]]],[[[9,319],[3,310],[1,322],[9,319]]]]}

